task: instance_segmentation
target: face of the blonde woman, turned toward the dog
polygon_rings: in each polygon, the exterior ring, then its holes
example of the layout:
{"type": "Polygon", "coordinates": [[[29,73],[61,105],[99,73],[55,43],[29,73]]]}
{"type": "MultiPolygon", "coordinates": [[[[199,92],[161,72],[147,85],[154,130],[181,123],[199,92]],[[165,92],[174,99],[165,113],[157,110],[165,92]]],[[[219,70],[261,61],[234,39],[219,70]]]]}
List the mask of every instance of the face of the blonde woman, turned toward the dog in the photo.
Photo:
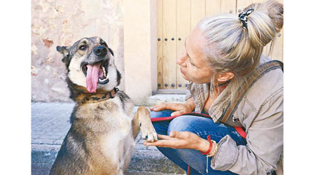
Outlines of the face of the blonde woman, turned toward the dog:
{"type": "Polygon", "coordinates": [[[202,50],[204,43],[205,40],[200,29],[193,29],[186,38],[182,55],[176,59],[176,64],[181,66],[183,78],[200,84],[209,83],[212,76],[212,71],[202,50]]]}

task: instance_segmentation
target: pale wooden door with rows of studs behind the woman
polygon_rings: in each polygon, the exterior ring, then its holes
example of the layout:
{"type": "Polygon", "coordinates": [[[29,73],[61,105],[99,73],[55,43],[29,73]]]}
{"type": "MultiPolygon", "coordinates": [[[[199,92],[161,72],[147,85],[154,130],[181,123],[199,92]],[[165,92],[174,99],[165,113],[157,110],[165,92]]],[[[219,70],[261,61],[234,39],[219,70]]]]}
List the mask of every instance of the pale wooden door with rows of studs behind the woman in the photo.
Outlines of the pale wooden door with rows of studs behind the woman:
{"type": "MultiPolygon", "coordinates": [[[[188,81],[181,76],[176,57],[181,55],[186,36],[204,16],[239,13],[261,0],[157,0],[158,18],[158,89],[183,90],[188,81]]],[[[279,0],[283,3],[283,0],[279,0]]],[[[264,49],[267,50],[270,44],[264,49]]],[[[283,60],[283,30],[276,36],[270,57],[283,60]]],[[[177,91],[179,92],[179,91],[177,91]]]]}

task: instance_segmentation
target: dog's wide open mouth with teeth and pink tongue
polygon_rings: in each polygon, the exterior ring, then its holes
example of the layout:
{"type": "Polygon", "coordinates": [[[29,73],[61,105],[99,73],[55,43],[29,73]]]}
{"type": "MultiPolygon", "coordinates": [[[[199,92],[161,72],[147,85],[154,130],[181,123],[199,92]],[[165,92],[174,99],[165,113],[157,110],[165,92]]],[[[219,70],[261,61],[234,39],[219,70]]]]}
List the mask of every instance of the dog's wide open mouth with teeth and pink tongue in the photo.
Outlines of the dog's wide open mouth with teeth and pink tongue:
{"type": "Polygon", "coordinates": [[[82,69],[86,76],[86,86],[88,92],[96,92],[97,84],[105,85],[109,83],[108,61],[97,62],[96,64],[84,64],[82,69]]]}

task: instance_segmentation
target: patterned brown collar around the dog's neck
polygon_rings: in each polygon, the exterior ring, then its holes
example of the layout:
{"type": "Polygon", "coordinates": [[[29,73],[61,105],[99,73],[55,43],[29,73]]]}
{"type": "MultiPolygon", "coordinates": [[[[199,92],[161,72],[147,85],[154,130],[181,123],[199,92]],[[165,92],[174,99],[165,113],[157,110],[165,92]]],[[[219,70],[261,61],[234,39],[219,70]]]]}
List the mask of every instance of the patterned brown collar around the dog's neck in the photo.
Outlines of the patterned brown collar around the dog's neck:
{"type": "Polygon", "coordinates": [[[116,97],[116,92],[118,92],[118,88],[114,87],[113,90],[110,92],[102,92],[102,93],[97,93],[97,94],[91,94],[89,96],[86,96],[82,103],[98,103],[98,102],[103,102],[107,99],[113,99],[116,97]]]}

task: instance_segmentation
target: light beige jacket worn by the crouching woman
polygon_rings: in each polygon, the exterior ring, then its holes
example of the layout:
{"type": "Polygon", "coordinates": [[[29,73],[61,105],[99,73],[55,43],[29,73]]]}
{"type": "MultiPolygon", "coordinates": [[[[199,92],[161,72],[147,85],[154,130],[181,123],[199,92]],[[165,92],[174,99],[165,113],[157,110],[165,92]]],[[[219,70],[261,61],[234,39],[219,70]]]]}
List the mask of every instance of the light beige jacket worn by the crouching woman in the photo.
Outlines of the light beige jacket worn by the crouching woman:
{"type": "MultiPolygon", "coordinates": [[[[262,55],[260,63],[270,61],[262,55]]],[[[186,99],[194,97],[196,112],[203,109],[209,95],[209,83],[190,83],[186,99]]],[[[209,115],[218,122],[230,102],[228,85],[210,106],[209,115]]],[[[226,135],[218,142],[219,148],[211,160],[216,170],[230,170],[237,174],[283,174],[283,72],[274,69],[262,76],[246,92],[233,118],[238,119],[247,134],[246,146],[237,146],[226,135]]]]}

